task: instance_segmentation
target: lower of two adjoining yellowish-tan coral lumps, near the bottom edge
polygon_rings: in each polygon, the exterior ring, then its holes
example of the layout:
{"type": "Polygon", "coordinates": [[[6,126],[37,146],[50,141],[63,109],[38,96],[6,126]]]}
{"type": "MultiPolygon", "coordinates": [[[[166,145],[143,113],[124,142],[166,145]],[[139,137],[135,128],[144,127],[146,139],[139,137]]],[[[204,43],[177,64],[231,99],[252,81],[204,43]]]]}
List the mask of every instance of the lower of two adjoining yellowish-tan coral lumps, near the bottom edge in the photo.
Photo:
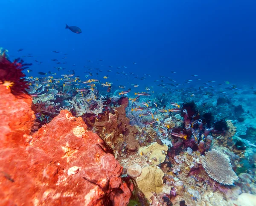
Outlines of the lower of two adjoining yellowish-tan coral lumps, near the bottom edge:
{"type": "Polygon", "coordinates": [[[142,173],[137,177],[136,182],[148,201],[151,202],[152,192],[159,194],[163,191],[163,176],[163,171],[153,165],[142,168],[142,173]]]}

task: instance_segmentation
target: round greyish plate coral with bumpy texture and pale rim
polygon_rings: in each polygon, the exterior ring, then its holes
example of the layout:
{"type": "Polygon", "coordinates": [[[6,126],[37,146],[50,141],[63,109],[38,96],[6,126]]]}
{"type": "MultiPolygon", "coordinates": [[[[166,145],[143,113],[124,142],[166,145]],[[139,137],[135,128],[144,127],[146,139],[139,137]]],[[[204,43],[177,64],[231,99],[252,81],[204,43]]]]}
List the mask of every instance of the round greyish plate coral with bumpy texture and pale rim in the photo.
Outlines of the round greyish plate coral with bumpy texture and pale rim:
{"type": "Polygon", "coordinates": [[[202,164],[209,177],[224,185],[233,185],[234,181],[238,180],[226,154],[217,150],[212,150],[205,154],[202,164]]]}

